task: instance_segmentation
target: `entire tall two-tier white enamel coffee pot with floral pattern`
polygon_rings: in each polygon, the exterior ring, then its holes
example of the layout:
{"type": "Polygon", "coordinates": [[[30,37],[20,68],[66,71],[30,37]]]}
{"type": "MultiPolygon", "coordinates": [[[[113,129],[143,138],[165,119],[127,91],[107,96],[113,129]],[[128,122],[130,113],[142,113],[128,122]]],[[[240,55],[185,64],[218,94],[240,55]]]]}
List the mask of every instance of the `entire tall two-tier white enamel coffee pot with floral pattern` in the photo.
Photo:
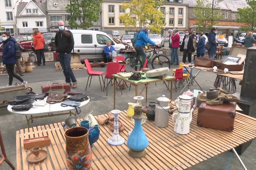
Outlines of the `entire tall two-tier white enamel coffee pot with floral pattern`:
{"type": "Polygon", "coordinates": [[[173,113],[172,122],[174,123],[174,131],[179,134],[189,133],[189,126],[192,121],[192,113],[194,109],[191,109],[191,100],[193,98],[186,94],[178,96],[175,100],[175,105],[178,109],[178,113],[173,113]],[[176,120],[174,120],[176,116],[176,120]]]}

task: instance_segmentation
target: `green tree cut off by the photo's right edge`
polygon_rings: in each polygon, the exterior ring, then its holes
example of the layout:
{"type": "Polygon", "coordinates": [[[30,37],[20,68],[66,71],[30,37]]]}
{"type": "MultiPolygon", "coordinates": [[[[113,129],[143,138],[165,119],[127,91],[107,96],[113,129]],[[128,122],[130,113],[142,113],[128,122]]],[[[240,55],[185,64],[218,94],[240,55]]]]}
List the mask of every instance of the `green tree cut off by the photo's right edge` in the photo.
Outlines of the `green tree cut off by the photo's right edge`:
{"type": "Polygon", "coordinates": [[[246,0],[249,7],[238,8],[240,18],[237,19],[238,23],[245,23],[243,30],[256,31],[256,0],[246,0]]]}

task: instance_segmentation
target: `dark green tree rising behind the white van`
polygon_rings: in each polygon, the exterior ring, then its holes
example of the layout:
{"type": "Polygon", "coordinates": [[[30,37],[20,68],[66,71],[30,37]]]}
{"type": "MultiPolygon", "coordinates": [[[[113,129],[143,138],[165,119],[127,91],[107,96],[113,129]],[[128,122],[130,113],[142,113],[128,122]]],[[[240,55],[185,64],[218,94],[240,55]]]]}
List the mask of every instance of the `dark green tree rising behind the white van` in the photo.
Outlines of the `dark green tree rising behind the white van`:
{"type": "Polygon", "coordinates": [[[66,6],[66,11],[72,13],[69,20],[71,27],[87,29],[93,22],[99,20],[102,0],[70,0],[71,5],[66,6]],[[79,22],[76,22],[76,20],[79,22]]]}

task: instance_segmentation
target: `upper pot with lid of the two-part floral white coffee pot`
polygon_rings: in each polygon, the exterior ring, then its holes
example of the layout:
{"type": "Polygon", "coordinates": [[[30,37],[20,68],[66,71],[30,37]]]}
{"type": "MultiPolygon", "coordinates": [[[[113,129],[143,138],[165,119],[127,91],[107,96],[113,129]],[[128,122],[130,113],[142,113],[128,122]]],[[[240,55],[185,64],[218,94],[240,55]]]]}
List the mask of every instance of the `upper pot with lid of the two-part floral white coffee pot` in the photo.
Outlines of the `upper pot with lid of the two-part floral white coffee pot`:
{"type": "Polygon", "coordinates": [[[177,99],[175,100],[175,106],[177,107],[179,112],[189,113],[192,108],[191,101],[193,102],[192,96],[183,94],[177,97],[177,99]]]}

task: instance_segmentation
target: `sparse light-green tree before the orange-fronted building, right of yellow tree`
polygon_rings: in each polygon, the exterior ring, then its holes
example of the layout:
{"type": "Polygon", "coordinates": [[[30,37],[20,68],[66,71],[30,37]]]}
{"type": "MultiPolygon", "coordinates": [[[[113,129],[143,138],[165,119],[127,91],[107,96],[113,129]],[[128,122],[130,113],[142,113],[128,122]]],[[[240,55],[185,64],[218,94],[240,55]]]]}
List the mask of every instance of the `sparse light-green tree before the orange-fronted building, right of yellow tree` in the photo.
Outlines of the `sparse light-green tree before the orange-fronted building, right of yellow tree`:
{"type": "Polygon", "coordinates": [[[197,5],[195,6],[195,20],[196,25],[200,31],[205,31],[208,28],[212,28],[213,25],[219,22],[223,15],[218,15],[221,11],[217,7],[217,0],[196,0],[197,5]]]}

